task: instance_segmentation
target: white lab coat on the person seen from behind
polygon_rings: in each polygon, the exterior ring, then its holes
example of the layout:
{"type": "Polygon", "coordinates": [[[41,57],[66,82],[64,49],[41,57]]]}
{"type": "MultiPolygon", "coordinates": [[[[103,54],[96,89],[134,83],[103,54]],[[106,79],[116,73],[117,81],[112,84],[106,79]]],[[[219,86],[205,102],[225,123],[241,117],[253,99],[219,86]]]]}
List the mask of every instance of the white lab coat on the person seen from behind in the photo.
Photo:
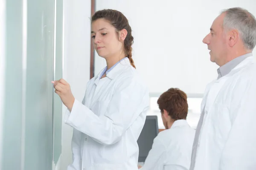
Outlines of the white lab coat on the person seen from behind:
{"type": "Polygon", "coordinates": [[[140,170],[189,170],[194,137],[195,129],[186,120],[176,120],[154,139],[140,170]]]}

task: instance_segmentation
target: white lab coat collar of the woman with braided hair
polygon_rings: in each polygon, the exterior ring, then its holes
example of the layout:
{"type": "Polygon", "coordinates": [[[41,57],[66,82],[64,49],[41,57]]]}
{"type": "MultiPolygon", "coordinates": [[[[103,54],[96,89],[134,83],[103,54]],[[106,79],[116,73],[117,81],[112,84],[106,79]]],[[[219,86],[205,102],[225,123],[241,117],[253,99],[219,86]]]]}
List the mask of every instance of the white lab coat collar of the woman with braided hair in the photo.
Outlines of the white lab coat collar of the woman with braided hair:
{"type": "MultiPolygon", "coordinates": [[[[108,77],[109,79],[113,80],[115,79],[119,74],[120,74],[120,71],[122,70],[122,68],[125,66],[125,65],[131,65],[130,61],[128,58],[125,58],[123,59],[122,61],[118,62],[118,64],[108,73],[106,74],[106,77],[108,77]]],[[[95,77],[95,81],[94,83],[97,85],[98,82],[99,82],[99,79],[100,79],[100,75],[102,74],[103,71],[106,70],[106,67],[103,68],[99,74],[95,77]]]]}

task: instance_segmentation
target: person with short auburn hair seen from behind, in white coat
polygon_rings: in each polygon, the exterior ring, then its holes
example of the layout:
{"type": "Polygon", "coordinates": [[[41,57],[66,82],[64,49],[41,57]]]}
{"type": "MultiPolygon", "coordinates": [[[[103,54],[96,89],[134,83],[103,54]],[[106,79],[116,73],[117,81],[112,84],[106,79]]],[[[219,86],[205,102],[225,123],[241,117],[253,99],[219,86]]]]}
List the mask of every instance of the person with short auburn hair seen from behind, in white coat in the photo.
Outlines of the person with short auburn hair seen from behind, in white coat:
{"type": "Polygon", "coordinates": [[[189,170],[195,130],[186,122],[186,94],[170,88],[157,100],[163,125],[140,170],[189,170]]]}

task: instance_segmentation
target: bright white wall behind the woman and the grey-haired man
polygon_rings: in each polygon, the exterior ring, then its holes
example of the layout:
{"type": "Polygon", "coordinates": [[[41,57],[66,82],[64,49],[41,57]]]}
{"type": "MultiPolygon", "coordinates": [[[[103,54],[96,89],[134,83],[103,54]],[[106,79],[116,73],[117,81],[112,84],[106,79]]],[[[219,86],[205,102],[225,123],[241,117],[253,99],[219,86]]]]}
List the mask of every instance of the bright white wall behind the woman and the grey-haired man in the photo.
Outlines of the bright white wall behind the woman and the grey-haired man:
{"type": "MultiPolygon", "coordinates": [[[[218,76],[218,66],[210,62],[202,40],[220,11],[236,6],[256,16],[255,0],[96,0],[96,10],[113,8],[128,18],[135,65],[150,92],[157,94],[171,87],[187,94],[204,93],[218,76]]],[[[104,66],[96,57],[95,72],[104,66]]]]}

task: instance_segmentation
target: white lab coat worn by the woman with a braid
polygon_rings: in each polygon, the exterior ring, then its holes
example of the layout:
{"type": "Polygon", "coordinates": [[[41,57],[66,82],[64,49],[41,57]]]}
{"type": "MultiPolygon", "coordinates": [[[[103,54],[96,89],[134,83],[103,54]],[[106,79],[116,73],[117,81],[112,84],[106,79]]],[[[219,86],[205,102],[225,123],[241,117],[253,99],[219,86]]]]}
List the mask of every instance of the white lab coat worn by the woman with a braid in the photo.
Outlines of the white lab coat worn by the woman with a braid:
{"type": "Polygon", "coordinates": [[[75,100],[67,111],[65,123],[74,127],[73,163],[67,170],[137,170],[148,89],[129,59],[105,78],[99,78],[101,72],[87,83],[83,102],[75,100]]]}

